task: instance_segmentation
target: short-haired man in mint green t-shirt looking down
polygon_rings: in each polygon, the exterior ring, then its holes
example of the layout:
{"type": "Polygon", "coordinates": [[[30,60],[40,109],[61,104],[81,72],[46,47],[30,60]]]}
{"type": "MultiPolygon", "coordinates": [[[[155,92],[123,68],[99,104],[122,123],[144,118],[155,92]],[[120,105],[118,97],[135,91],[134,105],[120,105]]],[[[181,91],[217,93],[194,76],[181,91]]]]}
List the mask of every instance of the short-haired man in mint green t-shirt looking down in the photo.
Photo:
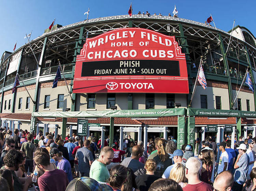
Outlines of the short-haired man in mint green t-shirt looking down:
{"type": "Polygon", "coordinates": [[[106,166],[113,161],[113,158],[113,149],[109,146],[104,146],[101,149],[99,159],[91,164],[90,178],[99,182],[106,182],[109,178],[109,171],[106,166]]]}

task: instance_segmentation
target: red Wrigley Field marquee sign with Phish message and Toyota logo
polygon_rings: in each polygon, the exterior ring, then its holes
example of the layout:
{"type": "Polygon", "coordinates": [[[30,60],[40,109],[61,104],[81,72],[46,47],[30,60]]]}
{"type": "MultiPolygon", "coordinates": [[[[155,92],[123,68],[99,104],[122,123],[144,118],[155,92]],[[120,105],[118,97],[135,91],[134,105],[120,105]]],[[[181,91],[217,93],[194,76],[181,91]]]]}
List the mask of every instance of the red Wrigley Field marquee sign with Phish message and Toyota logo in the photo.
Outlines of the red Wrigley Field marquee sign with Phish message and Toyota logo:
{"type": "Polygon", "coordinates": [[[77,56],[74,93],[188,93],[185,54],[174,36],[123,28],[87,38],[77,56]]]}

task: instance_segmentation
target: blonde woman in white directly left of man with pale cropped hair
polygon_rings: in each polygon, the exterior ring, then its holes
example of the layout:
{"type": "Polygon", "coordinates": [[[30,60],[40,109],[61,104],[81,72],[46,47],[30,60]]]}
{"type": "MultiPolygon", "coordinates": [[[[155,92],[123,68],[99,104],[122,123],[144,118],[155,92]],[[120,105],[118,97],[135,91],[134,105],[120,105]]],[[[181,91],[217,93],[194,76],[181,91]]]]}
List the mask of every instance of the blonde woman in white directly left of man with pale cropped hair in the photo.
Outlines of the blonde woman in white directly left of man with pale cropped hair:
{"type": "Polygon", "coordinates": [[[187,179],[185,177],[185,167],[183,166],[183,164],[174,164],[172,170],[170,171],[169,178],[177,182],[182,188],[187,186],[187,179]]]}

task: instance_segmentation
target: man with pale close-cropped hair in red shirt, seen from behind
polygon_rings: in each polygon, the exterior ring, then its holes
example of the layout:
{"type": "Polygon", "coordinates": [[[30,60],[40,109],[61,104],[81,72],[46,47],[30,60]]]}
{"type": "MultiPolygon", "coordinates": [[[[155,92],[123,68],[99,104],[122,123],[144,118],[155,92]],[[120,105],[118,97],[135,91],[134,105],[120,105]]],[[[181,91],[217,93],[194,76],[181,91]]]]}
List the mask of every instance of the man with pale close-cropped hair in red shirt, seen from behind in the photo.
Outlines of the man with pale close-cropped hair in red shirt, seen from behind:
{"type": "Polygon", "coordinates": [[[202,162],[197,157],[190,157],[185,166],[185,176],[188,179],[188,185],[183,188],[183,191],[212,191],[213,187],[210,184],[204,183],[199,179],[199,174],[202,169],[202,162]]]}

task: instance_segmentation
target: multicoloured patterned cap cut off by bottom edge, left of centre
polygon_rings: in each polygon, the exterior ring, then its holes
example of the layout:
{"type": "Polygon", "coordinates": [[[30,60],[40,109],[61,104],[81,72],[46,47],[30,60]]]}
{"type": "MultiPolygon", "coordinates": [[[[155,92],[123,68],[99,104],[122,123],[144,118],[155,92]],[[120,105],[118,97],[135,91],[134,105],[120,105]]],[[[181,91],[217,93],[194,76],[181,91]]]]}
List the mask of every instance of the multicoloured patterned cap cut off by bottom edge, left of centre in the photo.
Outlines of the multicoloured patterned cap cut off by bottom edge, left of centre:
{"type": "Polygon", "coordinates": [[[66,191],[113,191],[113,189],[106,184],[100,184],[95,179],[89,177],[75,178],[70,181],[66,191]]]}

